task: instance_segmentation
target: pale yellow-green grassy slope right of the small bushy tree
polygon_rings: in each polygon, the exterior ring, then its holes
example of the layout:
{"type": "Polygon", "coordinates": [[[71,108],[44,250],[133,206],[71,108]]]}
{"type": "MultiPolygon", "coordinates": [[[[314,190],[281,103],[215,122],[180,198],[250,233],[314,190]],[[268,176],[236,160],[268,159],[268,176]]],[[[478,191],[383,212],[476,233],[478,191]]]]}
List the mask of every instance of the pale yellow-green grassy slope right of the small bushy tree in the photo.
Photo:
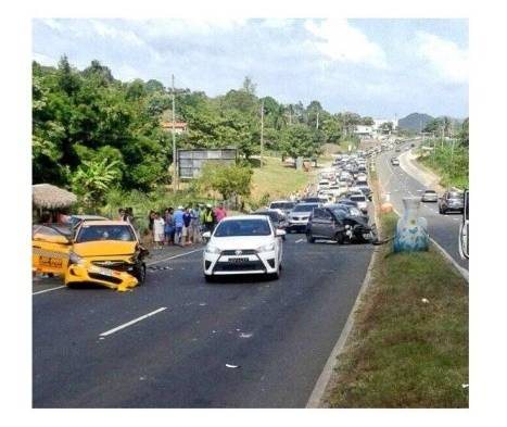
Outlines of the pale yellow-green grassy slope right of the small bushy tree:
{"type": "Polygon", "coordinates": [[[284,166],[280,159],[265,156],[264,166],[254,168],[251,199],[259,201],[284,198],[292,191],[301,191],[309,179],[308,173],[284,166]]]}

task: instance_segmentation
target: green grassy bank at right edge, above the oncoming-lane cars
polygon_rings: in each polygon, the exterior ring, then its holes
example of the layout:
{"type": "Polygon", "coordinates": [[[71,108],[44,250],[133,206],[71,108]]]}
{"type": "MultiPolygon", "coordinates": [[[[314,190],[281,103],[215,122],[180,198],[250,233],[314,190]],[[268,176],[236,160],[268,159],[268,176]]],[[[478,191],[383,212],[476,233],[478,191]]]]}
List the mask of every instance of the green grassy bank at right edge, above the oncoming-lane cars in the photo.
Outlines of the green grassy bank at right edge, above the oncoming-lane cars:
{"type": "MultiPolygon", "coordinates": [[[[433,147],[433,142],[428,146],[433,147]]],[[[441,177],[442,187],[468,188],[468,148],[456,143],[453,150],[451,143],[441,146],[436,141],[434,153],[420,156],[418,161],[441,177]]]]}

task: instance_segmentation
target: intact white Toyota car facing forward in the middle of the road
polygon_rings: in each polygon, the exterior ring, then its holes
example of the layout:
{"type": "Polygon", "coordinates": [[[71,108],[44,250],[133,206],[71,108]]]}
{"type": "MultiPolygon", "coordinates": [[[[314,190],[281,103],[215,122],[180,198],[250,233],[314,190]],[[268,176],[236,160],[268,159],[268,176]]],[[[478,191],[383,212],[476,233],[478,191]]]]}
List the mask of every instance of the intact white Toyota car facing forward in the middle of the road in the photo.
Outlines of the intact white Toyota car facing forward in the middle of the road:
{"type": "Polygon", "coordinates": [[[210,239],[203,256],[204,277],[262,274],[280,276],[282,237],[284,230],[275,229],[268,216],[241,215],[225,217],[210,239]]]}

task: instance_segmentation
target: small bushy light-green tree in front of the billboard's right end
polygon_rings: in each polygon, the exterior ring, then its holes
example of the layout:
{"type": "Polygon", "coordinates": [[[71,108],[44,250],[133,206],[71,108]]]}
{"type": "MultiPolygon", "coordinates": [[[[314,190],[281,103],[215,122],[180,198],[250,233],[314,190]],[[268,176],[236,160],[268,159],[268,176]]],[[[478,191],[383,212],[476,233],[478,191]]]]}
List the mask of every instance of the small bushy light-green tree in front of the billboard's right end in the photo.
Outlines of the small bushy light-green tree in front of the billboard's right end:
{"type": "Polygon", "coordinates": [[[249,196],[252,187],[253,171],[249,166],[206,163],[201,169],[197,186],[203,190],[213,190],[224,200],[233,196],[249,196]]]}

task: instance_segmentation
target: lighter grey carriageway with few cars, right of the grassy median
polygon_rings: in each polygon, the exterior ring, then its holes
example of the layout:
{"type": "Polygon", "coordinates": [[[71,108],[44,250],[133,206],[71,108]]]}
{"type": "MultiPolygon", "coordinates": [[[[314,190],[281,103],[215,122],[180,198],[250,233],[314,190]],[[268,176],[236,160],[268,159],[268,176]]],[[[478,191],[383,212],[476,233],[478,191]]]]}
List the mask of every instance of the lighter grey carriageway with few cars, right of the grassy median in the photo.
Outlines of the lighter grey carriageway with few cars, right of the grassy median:
{"type": "MultiPolygon", "coordinates": [[[[402,146],[406,150],[409,143],[402,146]]],[[[385,192],[390,193],[391,203],[398,212],[403,212],[404,197],[420,197],[427,188],[408,175],[401,166],[391,165],[391,158],[401,153],[394,150],[380,153],[376,159],[379,180],[385,192]]],[[[462,268],[468,271],[468,260],[461,260],[458,250],[459,213],[441,215],[438,203],[421,203],[420,215],[428,219],[428,231],[462,268]]]]}

